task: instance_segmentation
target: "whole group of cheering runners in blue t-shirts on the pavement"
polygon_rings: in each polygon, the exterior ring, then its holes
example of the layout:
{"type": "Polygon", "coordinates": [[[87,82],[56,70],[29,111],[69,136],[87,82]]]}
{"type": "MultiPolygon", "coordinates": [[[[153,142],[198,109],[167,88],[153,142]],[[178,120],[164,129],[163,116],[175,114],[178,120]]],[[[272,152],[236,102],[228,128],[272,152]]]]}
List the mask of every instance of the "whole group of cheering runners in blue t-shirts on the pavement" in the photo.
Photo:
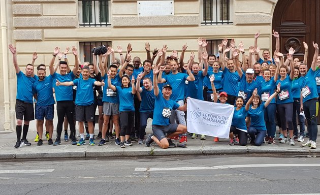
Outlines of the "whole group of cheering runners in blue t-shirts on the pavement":
{"type": "MultiPolygon", "coordinates": [[[[235,142],[246,145],[248,138],[256,146],[266,142],[274,144],[276,121],[280,130],[280,143],[295,145],[296,140],[304,142],[306,120],[309,140],[302,146],[315,149],[320,93],[318,45],[313,43],[314,55],[308,70],[306,43],[303,62],[293,57],[293,48],[289,49],[285,59],[279,51],[279,35],[273,31],[276,39],[273,58],[269,50],[263,50],[261,58],[259,36],[259,32],[254,35],[254,46],[249,47],[248,55],[245,54],[243,43],[236,46],[234,39],[223,39],[218,45],[218,54],[208,54],[208,43],[199,38],[199,62],[195,61],[194,52],[184,61],[187,45],[182,46],[178,58],[176,50],[170,55],[166,54],[167,45],[150,52],[150,45],[146,43],[147,56],[142,63],[139,57],[132,60],[131,44],[127,45],[125,52],[122,52],[121,46],[117,47],[119,59],[111,47],[93,48],[92,63],[81,63],[77,49],[73,47],[75,66],[72,70],[67,57],[69,48],[60,52],[59,47],[55,47],[49,64],[49,76],[45,64],[40,64],[37,75],[34,74],[37,53],[33,54],[33,61],[27,64],[25,73],[22,73],[17,63],[16,48],[9,45],[18,80],[15,148],[31,145],[26,136],[29,121],[34,120],[34,117],[37,120],[37,145],[43,144],[44,123],[48,144],[61,143],[65,124],[63,141],[71,139],[72,145],[83,145],[89,140],[90,145],[95,145],[97,107],[98,145],[114,139],[114,126],[115,144],[120,148],[131,146],[133,141],[145,143],[146,146],[155,142],[161,148],[176,147],[171,140],[180,137],[180,143],[187,141],[186,105],[188,98],[194,98],[235,106],[229,145],[235,142]],[[35,109],[33,98],[36,100],[35,109]],[[58,123],[53,142],[55,102],[58,123]],[[146,136],[148,118],[152,119],[152,134],[146,136]],[[78,142],[75,121],[79,124],[78,142]]],[[[191,135],[191,139],[197,138],[197,134],[191,135]]],[[[201,140],[205,139],[205,135],[201,135],[201,140]]],[[[219,138],[214,138],[214,141],[218,142],[219,138]]]]}

